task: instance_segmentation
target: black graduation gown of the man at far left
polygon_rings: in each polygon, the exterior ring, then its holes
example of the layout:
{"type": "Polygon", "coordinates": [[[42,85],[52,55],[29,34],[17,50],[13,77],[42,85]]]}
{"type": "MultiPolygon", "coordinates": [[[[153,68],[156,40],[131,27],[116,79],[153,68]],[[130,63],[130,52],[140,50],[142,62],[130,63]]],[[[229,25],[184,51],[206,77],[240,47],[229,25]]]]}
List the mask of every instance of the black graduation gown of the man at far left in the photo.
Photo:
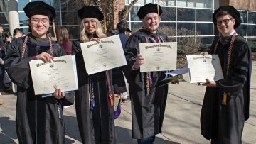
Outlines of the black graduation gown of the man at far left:
{"type": "MultiPolygon", "coordinates": [[[[35,96],[28,62],[41,52],[50,53],[48,40],[29,37],[24,57],[21,57],[23,38],[12,41],[6,52],[5,67],[11,81],[17,85],[16,133],[18,142],[64,143],[63,104],[66,99],[35,96]],[[36,44],[37,43],[37,44],[36,44]],[[39,45],[43,44],[43,45],[39,45]]],[[[63,48],[53,43],[53,56],[65,55],[63,48]]],[[[70,94],[65,94],[68,96],[70,94]]],[[[74,94],[73,94],[74,95],[74,94]]]]}

